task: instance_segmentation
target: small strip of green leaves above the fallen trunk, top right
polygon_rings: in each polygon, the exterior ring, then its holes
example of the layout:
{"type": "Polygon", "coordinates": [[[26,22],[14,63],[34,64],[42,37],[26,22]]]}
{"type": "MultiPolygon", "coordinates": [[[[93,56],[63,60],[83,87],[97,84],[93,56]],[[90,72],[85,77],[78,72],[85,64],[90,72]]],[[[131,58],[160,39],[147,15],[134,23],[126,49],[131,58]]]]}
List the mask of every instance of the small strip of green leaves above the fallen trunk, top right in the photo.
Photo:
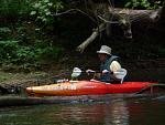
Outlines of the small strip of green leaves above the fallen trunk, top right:
{"type": "Polygon", "coordinates": [[[127,0],[125,8],[132,9],[157,9],[160,7],[161,1],[156,1],[151,3],[148,0],[127,0]]]}

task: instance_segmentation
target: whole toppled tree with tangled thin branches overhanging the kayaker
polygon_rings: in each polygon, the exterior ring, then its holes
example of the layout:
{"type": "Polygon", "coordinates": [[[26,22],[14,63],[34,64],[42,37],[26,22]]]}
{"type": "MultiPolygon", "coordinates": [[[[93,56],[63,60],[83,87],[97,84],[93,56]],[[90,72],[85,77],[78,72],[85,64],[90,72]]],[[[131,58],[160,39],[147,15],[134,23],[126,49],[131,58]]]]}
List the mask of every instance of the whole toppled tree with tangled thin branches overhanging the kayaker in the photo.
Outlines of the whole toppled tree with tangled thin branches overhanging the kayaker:
{"type": "Polygon", "coordinates": [[[69,3],[72,4],[70,7],[74,8],[62,13],[56,13],[56,15],[80,12],[87,15],[97,25],[91,34],[77,46],[77,51],[79,52],[84,52],[87,45],[95,41],[101,32],[106,31],[107,34],[110,35],[112,24],[119,24],[124,37],[132,39],[132,22],[142,22],[145,20],[150,23],[156,23],[158,20],[165,18],[164,1],[162,1],[162,6],[158,6],[160,8],[148,10],[114,8],[112,0],[69,0],[69,3]]]}

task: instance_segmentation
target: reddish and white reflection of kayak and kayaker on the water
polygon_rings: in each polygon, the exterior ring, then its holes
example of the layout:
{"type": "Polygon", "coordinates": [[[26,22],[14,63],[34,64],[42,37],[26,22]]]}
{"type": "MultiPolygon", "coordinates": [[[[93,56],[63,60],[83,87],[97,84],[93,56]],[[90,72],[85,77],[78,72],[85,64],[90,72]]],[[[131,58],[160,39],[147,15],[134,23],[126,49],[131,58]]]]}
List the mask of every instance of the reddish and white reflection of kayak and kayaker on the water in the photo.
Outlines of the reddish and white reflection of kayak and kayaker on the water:
{"type": "Polygon", "coordinates": [[[86,106],[67,106],[59,113],[64,121],[90,122],[101,125],[128,125],[129,111],[127,102],[119,101],[111,104],[95,104],[86,106]]]}

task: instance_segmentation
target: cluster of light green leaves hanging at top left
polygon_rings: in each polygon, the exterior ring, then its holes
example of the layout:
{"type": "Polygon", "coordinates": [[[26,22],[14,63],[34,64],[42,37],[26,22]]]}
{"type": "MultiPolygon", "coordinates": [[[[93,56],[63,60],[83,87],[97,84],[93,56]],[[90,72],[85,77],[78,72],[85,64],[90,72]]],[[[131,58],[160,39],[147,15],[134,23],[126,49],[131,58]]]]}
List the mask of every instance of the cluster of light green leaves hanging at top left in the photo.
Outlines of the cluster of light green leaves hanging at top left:
{"type": "Polygon", "coordinates": [[[40,0],[34,1],[31,4],[31,15],[36,18],[36,21],[41,21],[45,24],[54,22],[54,12],[58,12],[64,8],[61,0],[40,0]]]}

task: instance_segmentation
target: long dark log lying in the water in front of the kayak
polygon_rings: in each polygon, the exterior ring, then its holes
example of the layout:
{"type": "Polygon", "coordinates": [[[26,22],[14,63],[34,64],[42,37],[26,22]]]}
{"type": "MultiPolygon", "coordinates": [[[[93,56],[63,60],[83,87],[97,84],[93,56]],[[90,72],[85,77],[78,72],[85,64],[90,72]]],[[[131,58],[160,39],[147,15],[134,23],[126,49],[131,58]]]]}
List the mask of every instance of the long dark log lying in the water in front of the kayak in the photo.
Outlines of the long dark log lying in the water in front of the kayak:
{"type": "MultiPolygon", "coordinates": [[[[143,92],[142,92],[143,93],[143,92]]],[[[160,94],[141,94],[141,92],[133,94],[106,94],[106,95],[80,95],[80,96],[48,96],[48,97],[33,97],[33,96],[0,96],[0,107],[9,106],[31,106],[41,104],[86,104],[86,103],[109,103],[120,100],[136,100],[143,97],[157,97],[160,94]]]]}

